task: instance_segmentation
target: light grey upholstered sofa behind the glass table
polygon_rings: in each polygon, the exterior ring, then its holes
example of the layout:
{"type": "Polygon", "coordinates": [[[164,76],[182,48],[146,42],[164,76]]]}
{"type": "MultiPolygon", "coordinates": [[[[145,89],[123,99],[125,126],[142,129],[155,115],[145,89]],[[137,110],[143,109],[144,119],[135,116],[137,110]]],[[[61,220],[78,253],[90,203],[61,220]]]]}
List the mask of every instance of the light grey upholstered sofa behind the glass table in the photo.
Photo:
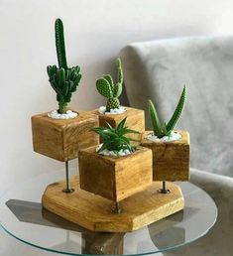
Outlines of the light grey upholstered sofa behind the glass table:
{"type": "Polygon", "coordinates": [[[219,210],[206,236],[166,255],[233,255],[233,38],[135,43],[120,57],[129,103],[146,110],[148,127],[148,99],[168,120],[186,84],[177,128],[190,132],[191,182],[208,192],[219,210]]]}

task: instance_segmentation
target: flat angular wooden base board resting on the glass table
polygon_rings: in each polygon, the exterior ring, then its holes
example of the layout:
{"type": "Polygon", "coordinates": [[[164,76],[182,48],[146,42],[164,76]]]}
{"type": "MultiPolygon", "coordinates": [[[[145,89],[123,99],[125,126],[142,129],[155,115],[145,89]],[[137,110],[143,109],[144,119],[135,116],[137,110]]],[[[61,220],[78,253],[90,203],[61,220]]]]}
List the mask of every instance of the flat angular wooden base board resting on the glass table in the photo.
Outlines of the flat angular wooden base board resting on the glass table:
{"type": "Polygon", "coordinates": [[[113,202],[79,189],[78,177],[70,181],[75,190],[64,193],[64,181],[48,186],[42,202],[48,210],[92,231],[129,232],[165,218],[184,207],[178,186],[168,183],[170,193],[160,193],[162,183],[155,182],[144,192],[123,199],[122,213],[113,213],[113,202]]]}

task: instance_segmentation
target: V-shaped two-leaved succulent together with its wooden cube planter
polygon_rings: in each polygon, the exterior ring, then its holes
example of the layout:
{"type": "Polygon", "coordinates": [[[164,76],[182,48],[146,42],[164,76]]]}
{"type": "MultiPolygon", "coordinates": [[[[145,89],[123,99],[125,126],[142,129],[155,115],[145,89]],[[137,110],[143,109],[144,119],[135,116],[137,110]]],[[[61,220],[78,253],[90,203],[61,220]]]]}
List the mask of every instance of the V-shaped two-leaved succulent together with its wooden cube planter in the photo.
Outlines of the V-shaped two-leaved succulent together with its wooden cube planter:
{"type": "Polygon", "coordinates": [[[145,132],[142,145],[153,151],[153,180],[164,182],[162,192],[168,192],[166,181],[189,180],[189,134],[187,131],[174,131],[183,110],[185,98],[184,86],[168,124],[160,121],[153,102],[149,100],[153,132],[145,132]]]}

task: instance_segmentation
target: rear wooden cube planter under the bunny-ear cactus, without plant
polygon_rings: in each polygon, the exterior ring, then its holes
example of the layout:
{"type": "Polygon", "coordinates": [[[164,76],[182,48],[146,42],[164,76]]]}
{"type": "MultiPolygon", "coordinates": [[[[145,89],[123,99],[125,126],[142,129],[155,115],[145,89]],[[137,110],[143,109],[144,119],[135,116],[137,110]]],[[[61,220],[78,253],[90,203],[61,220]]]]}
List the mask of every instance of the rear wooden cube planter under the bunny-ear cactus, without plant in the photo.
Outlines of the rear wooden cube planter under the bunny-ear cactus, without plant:
{"type": "MultiPolygon", "coordinates": [[[[122,114],[100,114],[98,109],[90,111],[99,116],[99,126],[106,127],[106,121],[112,127],[116,127],[121,120],[127,117],[126,126],[136,130],[141,134],[127,134],[127,137],[141,141],[142,133],[145,132],[145,113],[144,110],[126,107],[127,111],[122,114]]],[[[136,145],[136,144],[135,144],[136,145]]]]}

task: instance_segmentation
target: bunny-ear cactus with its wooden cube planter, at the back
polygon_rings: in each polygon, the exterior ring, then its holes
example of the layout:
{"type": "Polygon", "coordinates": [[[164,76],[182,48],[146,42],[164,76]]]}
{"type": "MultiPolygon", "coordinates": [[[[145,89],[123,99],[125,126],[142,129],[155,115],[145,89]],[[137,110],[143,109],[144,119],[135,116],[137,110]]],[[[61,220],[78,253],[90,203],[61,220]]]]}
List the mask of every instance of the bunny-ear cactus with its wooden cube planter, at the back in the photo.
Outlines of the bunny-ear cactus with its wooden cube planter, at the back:
{"type": "Polygon", "coordinates": [[[117,80],[110,74],[103,74],[96,80],[98,92],[107,99],[106,106],[95,109],[93,113],[99,115],[100,126],[106,126],[106,122],[117,127],[122,119],[127,117],[127,126],[139,131],[139,134],[129,135],[133,139],[141,139],[141,133],[145,131],[145,114],[141,109],[124,107],[120,105],[119,96],[122,93],[124,75],[121,60],[116,60],[117,80]]]}

